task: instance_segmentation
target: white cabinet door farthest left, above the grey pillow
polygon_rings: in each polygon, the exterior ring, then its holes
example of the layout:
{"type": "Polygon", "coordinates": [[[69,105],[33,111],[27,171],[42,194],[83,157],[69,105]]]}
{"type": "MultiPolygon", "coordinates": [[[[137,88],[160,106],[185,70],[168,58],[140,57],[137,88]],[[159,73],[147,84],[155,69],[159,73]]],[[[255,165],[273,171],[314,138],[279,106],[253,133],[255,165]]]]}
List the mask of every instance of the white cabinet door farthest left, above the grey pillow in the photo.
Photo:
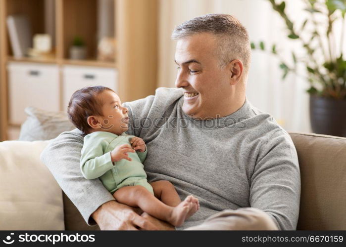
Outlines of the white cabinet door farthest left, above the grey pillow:
{"type": "Polygon", "coordinates": [[[27,106],[59,111],[59,69],[56,65],[8,64],[9,123],[22,124],[27,106]]]}

